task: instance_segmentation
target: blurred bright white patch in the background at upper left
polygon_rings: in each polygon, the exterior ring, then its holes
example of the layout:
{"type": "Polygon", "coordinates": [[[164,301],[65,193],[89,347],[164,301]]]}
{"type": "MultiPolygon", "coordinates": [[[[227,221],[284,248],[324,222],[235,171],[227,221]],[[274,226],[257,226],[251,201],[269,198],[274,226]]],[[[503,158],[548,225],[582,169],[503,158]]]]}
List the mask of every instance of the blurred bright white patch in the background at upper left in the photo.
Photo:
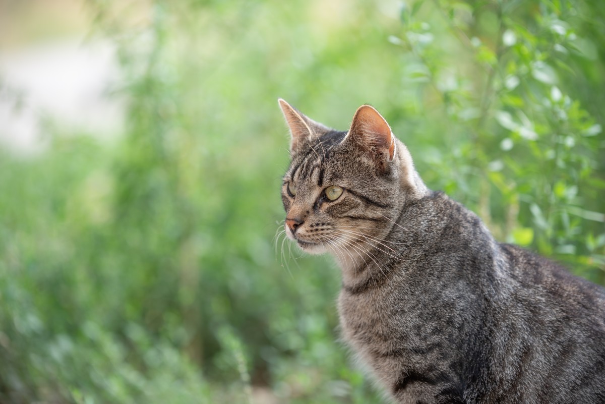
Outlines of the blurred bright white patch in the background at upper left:
{"type": "Polygon", "coordinates": [[[43,119],[66,132],[115,137],[124,122],[124,102],[110,94],[118,79],[110,42],[73,39],[0,53],[0,147],[43,151],[43,119]]]}

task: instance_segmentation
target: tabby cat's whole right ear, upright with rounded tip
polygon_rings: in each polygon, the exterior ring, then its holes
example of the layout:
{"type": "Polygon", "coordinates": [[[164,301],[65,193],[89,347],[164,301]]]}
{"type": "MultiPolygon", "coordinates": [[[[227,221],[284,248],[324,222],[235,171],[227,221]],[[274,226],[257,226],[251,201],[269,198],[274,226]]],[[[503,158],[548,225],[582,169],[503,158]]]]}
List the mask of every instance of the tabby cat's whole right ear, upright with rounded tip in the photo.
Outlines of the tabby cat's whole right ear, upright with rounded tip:
{"type": "Polygon", "coordinates": [[[357,109],[344,141],[361,146],[379,160],[393,160],[395,140],[391,127],[370,105],[362,105],[357,109]]]}

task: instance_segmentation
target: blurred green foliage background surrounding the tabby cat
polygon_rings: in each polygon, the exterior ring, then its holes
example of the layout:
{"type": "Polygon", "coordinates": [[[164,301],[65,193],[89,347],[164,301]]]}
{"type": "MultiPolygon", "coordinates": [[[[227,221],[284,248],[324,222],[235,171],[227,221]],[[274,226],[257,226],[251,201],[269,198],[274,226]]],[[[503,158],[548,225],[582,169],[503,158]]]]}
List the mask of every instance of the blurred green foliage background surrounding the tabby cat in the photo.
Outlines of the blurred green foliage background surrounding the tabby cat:
{"type": "Polygon", "coordinates": [[[605,282],[601,0],[1,0],[0,403],[379,403],[277,106],[605,282]]]}

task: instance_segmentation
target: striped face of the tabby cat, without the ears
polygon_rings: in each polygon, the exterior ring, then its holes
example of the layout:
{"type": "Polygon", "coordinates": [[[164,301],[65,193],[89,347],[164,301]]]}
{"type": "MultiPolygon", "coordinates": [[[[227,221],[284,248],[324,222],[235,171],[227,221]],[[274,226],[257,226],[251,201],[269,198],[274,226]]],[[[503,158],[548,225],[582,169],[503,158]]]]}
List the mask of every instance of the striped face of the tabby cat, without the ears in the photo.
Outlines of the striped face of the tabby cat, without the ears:
{"type": "Polygon", "coordinates": [[[355,152],[339,142],[344,132],[324,136],[335,142],[302,148],[281,189],[286,233],[310,253],[352,247],[353,239],[375,235],[392,206],[393,178],[368,161],[351,161],[355,152]]]}

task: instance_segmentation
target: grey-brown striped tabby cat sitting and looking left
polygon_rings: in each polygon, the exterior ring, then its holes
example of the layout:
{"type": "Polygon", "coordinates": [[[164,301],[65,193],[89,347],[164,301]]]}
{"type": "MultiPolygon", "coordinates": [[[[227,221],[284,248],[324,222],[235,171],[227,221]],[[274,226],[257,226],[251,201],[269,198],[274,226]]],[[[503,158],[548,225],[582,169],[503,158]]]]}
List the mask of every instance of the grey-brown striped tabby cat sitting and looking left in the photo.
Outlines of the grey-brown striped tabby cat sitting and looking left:
{"type": "Polygon", "coordinates": [[[285,230],[342,272],[342,336],[397,403],[605,403],[605,290],[511,244],[414,169],[370,105],[348,131],[280,99],[285,230]]]}

